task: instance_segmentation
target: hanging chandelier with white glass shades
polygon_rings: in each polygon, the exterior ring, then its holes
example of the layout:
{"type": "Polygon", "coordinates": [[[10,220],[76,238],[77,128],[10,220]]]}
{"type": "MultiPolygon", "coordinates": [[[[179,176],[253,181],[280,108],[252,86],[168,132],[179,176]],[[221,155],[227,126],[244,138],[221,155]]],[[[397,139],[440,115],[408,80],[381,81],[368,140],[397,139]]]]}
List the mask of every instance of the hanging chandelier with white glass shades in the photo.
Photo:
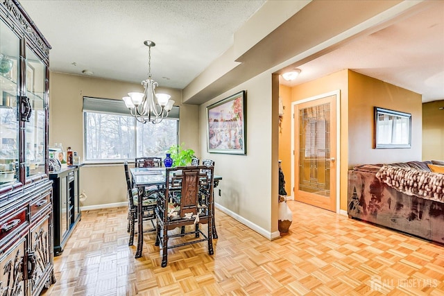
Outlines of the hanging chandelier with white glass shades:
{"type": "Polygon", "coordinates": [[[174,101],[170,100],[169,94],[156,94],[155,87],[158,83],[151,78],[151,47],[155,43],[151,40],[145,40],[144,44],[148,46],[148,79],[142,81],[145,92],[128,92],[122,100],[126,107],[135,116],[140,123],[160,123],[164,117],[173,108],[174,101]]]}

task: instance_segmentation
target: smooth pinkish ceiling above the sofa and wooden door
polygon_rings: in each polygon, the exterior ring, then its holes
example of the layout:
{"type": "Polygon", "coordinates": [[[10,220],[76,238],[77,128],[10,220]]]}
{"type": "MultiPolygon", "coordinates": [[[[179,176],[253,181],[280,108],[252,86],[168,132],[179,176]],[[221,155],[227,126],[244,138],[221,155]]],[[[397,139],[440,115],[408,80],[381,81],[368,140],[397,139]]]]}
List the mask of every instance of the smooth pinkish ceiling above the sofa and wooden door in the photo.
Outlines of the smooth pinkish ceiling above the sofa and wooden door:
{"type": "Polygon", "coordinates": [[[389,26],[359,37],[339,49],[305,64],[296,85],[342,69],[422,94],[422,102],[444,99],[444,1],[411,15],[402,15],[389,26]]]}

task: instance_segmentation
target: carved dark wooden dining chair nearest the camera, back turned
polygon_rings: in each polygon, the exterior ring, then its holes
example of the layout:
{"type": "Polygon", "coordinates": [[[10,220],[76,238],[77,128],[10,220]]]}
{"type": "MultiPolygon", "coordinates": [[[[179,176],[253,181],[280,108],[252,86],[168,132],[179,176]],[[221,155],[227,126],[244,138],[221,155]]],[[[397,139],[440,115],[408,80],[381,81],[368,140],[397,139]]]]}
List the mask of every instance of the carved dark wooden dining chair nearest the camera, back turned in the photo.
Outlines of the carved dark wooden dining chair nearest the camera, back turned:
{"type": "Polygon", "coordinates": [[[214,254],[212,241],[213,179],[212,166],[178,166],[167,168],[165,188],[155,208],[157,236],[155,245],[162,250],[162,267],[167,266],[168,249],[192,243],[208,242],[208,254],[214,254]],[[200,188],[206,186],[203,195],[200,188]],[[206,224],[206,234],[198,225],[206,224]],[[171,232],[176,227],[194,225],[185,233],[171,232]],[[194,234],[194,236],[189,236],[194,234]],[[199,234],[199,236],[197,235],[199,234]],[[186,236],[186,237],[185,237],[186,236]],[[170,238],[179,238],[170,241],[170,238]]]}

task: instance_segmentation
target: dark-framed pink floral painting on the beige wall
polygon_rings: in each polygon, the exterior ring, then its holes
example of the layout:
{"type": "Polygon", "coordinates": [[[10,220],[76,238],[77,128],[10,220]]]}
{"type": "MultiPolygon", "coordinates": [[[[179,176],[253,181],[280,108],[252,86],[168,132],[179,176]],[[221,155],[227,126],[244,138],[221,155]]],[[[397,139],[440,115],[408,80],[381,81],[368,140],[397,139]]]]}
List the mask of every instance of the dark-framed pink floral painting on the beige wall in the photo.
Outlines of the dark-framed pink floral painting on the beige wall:
{"type": "Polygon", "coordinates": [[[210,153],[246,154],[246,92],[207,107],[207,149],[210,153]]]}

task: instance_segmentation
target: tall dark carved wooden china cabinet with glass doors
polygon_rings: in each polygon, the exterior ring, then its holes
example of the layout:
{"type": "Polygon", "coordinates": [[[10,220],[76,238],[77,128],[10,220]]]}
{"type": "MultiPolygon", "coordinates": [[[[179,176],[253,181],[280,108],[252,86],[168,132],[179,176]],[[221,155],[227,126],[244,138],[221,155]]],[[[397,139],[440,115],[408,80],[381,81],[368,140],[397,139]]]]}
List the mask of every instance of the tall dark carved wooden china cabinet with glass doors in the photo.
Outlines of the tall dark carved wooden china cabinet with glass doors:
{"type": "Polygon", "coordinates": [[[17,0],[0,2],[0,294],[40,295],[53,272],[49,49],[17,0]]]}

